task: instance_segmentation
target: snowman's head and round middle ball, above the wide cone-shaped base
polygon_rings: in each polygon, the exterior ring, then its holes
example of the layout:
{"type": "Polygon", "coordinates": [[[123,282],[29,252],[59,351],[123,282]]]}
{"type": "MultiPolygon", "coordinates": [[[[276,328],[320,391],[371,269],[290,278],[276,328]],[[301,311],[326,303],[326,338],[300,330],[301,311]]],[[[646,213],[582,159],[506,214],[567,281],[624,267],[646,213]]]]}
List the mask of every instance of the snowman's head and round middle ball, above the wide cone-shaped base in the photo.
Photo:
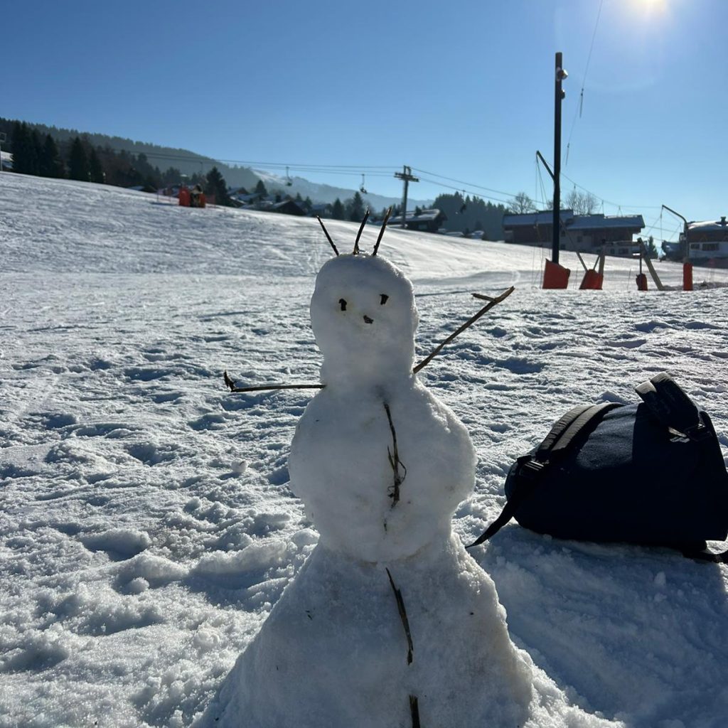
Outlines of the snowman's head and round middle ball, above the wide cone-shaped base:
{"type": "Polygon", "coordinates": [[[361,561],[448,539],[475,480],[467,430],[412,372],[418,320],[411,282],[380,256],[338,256],[317,276],[325,388],[296,427],[290,483],[320,542],[361,561]]]}

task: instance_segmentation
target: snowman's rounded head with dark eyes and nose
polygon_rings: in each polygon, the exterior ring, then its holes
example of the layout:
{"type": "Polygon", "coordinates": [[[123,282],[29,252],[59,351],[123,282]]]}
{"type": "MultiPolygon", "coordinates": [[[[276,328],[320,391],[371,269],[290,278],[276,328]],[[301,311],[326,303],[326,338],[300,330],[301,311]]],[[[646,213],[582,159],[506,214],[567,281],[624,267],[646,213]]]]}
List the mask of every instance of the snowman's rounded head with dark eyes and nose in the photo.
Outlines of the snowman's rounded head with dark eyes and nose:
{"type": "Polygon", "coordinates": [[[411,376],[419,316],[412,284],[376,255],[338,255],[316,277],[311,324],[323,384],[386,385],[411,376]]]}

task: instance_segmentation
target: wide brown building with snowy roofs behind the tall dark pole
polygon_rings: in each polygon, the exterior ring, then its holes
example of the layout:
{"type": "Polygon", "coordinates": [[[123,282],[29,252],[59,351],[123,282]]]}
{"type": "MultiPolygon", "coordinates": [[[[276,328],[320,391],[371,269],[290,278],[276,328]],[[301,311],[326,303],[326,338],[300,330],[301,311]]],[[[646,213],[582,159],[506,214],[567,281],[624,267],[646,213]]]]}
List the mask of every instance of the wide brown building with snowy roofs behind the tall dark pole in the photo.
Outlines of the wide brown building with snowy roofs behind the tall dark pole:
{"type": "MultiPolygon", "coordinates": [[[[579,253],[600,253],[609,256],[631,256],[639,246],[633,236],[644,228],[642,215],[576,215],[574,210],[561,210],[560,250],[579,253]]],[[[506,242],[519,245],[550,247],[553,241],[553,211],[503,215],[506,242]]]]}

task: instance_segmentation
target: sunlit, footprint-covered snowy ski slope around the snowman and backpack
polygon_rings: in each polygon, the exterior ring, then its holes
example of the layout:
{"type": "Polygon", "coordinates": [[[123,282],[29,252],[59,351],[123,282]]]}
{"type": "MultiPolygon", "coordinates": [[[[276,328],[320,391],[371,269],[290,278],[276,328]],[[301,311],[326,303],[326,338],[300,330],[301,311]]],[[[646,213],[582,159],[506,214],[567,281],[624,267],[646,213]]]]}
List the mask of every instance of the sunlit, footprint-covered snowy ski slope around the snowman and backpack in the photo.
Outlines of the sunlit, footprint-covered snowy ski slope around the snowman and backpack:
{"type": "MultiPolygon", "coordinates": [[[[0,726],[189,726],[317,541],[288,489],[308,393],[233,395],[221,373],[317,381],[308,304],[331,249],[310,219],[11,174],[0,195],[0,726]]],[[[349,250],[357,226],[328,228],[349,250]]],[[[381,253],[414,282],[419,355],[470,293],[516,287],[420,375],[477,450],[465,541],[554,419],[633,402],[658,371],[728,453],[728,289],[638,293],[635,262],[611,258],[604,291],[542,291],[539,250],[396,230],[381,253]]],[[[636,728],[728,724],[728,567],[515,524],[473,555],[574,703],[636,728]]]]}

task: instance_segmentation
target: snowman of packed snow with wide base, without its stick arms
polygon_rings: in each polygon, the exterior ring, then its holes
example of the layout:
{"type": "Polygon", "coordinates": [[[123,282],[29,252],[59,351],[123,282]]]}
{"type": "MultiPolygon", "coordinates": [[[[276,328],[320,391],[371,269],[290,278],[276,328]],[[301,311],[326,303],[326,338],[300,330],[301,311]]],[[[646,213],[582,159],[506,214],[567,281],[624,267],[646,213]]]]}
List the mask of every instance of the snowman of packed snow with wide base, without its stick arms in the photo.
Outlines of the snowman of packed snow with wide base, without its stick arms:
{"type": "Polygon", "coordinates": [[[339,255],[329,238],[336,257],[310,309],[323,386],[289,460],[320,540],[226,678],[211,724],[614,725],[539,678],[510,641],[491,578],[451,534],[475,451],[413,372],[414,292],[377,254],[383,232],[371,255],[358,237],[339,255]]]}

